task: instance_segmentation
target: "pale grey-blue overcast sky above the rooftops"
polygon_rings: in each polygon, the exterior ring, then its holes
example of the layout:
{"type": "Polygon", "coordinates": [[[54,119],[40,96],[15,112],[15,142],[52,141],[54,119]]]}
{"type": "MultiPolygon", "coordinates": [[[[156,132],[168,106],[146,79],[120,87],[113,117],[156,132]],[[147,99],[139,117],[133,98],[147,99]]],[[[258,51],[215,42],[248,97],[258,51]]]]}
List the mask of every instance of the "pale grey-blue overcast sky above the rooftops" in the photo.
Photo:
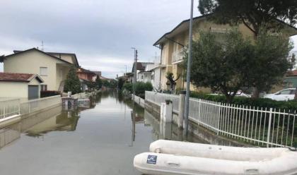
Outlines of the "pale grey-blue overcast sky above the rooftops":
{"type": "Polygon", "coordinates": [[[189,16],[190,0],[3,0],[0,55],[43,41],[45,52],[75,53],[83,68],[115,78],[125,65],[131,71],[131,47],[139,61],[153,61],[160,50],[152,44],[189,16]]]}

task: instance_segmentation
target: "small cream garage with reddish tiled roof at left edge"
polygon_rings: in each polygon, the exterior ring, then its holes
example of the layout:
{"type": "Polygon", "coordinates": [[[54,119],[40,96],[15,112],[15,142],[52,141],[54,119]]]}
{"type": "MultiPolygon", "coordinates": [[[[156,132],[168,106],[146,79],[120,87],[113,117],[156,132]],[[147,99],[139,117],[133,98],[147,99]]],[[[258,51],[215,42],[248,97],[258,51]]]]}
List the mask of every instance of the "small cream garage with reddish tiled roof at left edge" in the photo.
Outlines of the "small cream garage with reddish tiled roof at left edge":
{"type": "Polygon", "coordinates": [[[0,97],[36,99],[40,98],[42,78],[30,73],[0,73],[0,97]]]}

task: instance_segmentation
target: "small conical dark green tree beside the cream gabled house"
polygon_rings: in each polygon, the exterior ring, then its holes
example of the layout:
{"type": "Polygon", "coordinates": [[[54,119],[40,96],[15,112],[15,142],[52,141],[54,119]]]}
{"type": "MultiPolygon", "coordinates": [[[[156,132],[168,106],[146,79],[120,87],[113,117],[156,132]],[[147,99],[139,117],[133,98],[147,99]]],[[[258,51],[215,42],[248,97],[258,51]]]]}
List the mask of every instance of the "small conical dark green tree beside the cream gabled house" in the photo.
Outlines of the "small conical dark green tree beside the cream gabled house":
{"type": "Polygon", "coordinates": [[[81,82],[76,74],[76,67],[71,66],[65,80],[64,92],[71,91],[72,94],[81,92],[81,82]]]}

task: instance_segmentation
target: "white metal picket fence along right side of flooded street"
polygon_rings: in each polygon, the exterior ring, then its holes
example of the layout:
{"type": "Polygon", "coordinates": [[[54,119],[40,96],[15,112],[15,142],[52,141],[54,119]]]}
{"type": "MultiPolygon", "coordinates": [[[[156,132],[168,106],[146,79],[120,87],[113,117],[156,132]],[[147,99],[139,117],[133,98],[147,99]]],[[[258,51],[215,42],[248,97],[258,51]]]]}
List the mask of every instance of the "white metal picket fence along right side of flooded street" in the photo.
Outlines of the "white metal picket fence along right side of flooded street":
{"type": "MultiPolygon", "coordinates": [[[[156,104],[170,98],[177,99],[177,96],[146,92],[146,99],[156,104]]],[[[173,101],[177,111],[178,103],[178,100],[173,101]]],[[[217,134],[254,145],[297,147],[296,111],[190,98],[189,118],[217,134]]]]}

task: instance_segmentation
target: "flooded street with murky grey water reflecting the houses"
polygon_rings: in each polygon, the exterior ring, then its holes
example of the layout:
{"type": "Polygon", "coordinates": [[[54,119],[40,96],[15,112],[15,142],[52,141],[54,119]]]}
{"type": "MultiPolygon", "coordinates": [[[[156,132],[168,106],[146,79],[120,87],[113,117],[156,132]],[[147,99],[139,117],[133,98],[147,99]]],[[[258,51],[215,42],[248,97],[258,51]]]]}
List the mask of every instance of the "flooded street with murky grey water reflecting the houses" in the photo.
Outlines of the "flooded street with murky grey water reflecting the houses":
{"type": "Polygon", "coordinates": [[[2,129],[1,174],[139,174],[134,156],[147,152],[153,140],[183,138],[176,126],[160,124],[139,106],[132,117],[132,107],[117,92],[103,92],[91,109],[61,113],[58,107],[55,115],[2,129]]]}

